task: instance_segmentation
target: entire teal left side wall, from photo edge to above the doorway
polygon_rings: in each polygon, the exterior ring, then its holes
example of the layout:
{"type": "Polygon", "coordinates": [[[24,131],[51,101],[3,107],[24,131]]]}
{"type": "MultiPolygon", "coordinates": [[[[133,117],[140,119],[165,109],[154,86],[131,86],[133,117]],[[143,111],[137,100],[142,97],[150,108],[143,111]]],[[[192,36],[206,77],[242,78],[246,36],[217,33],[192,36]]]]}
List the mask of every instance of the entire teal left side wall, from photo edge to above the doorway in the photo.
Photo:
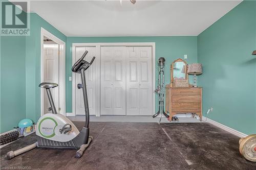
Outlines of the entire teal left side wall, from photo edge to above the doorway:
{"type": "Polygon", "coordinates": [[[30,15],[30,36],[1,36],[1,132],[20,119],[40,117],[41,27],[62,41],[67,37],[36,13],[30,15]]]}

